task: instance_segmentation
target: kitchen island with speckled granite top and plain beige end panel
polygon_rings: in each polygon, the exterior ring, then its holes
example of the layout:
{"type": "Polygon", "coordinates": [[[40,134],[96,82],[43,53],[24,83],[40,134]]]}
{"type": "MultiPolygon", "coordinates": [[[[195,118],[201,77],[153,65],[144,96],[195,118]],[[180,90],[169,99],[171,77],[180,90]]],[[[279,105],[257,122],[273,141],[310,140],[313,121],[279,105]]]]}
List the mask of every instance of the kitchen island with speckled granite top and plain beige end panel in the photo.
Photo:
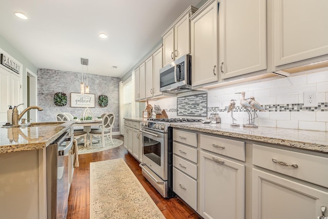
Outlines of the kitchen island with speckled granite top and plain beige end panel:
{"type": "Polygon", "coordinates": [[[47,218],[46,148],[73,124],[0,128],[0,218],[47,218]]]}

